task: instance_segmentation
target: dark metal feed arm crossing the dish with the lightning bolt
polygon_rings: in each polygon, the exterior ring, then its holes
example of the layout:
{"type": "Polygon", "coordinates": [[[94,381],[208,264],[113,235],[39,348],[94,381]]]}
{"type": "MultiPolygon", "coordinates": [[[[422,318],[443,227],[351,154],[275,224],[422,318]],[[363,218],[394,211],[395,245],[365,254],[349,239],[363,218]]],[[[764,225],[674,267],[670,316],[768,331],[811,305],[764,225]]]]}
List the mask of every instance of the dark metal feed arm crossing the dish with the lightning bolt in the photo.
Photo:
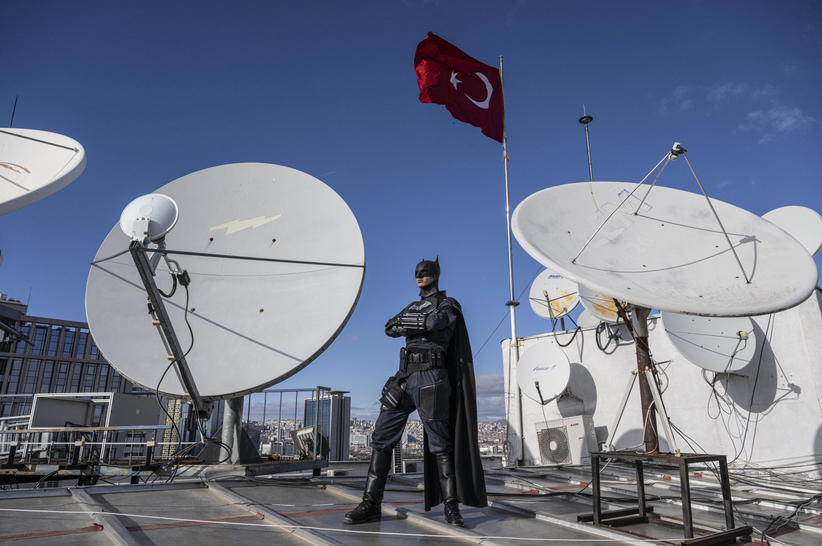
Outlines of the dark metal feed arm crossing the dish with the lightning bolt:
{"type": "MultiPolygon", "coordinates": [[[[132,254],[134,265],[140,274],[140,279],[143,281],[145,292],[148,294],[150,313],[155,319],[155,322],[157,322],[157,330],[160,333],[166,349],[169,350],[169,359],[173,359],[174,370],[177,372],[180,383],[187,396],[192,400],[197,419],[209,419],[211,411],[214,410],[214,402],[206,402],[202,396],[200,396],[200,391],[194,382],[192,372],[188,368],[186,354],[180,346],[177,334],[174,332],[171,320],[169,319],[169,312],[166,311],[163,298],[155,284],[154,267],[150,263],[149,258],[145,256],[146,252],[143,243],[138,239],[132,240],[132,243],[128,246],[128,251],[132,254]]],[[[159,259],[160,252],[155,252],[155,256],[159,259]]]]}

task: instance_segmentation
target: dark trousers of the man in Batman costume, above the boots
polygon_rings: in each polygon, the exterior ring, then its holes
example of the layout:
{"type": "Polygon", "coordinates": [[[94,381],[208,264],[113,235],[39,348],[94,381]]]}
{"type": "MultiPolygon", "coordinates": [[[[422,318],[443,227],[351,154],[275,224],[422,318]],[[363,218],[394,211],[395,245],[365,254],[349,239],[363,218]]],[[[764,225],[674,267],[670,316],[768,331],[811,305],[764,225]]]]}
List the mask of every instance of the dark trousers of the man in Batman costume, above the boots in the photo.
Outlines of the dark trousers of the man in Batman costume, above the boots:
{"type": "Polygon", "coordinates": [[[380,410],[372,434],[374,450],[393,450],[403,436],[409,414],[418,410],[428,440],[428,450],[435,455],[453,451],[449,428],[450,392],[446,368],[413,372],[405,383],[403,400],[397,409],[383,407],[380,410]]]}

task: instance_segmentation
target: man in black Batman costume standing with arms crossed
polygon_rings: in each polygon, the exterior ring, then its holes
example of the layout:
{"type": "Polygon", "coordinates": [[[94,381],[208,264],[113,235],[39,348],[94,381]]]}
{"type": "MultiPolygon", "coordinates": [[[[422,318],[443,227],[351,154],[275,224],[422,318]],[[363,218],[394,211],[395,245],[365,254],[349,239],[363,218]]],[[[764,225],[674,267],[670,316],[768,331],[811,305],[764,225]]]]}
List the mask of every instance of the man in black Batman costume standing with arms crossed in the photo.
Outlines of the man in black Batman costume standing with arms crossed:
{"type": "Polygon", "coordinates": [[[380,520],[392,451],[413,410],[418,410],[425,429],[426,511],[445,502],[446,522],[461,526],[459,502],[487,506],[477,439],[477,391],[462,308],[439,289],[439,257],[419,262],[414,276],[419,301],[386,322],[386,335],[404,336],[405,347],[399,351],[399,372],[382,391],[363,502],[345,515],[347,524],[380,520]]]}

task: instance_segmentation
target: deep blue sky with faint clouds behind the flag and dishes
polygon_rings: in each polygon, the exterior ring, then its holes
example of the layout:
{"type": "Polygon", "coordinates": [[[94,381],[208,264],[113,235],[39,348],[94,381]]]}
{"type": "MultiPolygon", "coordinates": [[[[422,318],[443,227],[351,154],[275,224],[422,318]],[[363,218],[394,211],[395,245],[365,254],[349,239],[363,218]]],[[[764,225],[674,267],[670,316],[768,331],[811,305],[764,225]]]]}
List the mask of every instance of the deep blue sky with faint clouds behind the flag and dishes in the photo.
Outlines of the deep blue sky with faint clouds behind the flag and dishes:
{"type": "MultiPolygon", "coordinates": [[[[31,314],[85,320],[88,263],[133,198],[217,164],[300,169],[349,203],[367,275],[339,339],[280,386],[352,391],[360,416],[396,368],[382,326],[416,297],[422,257],[441,257],[475,350],[506,313],[501,146],[418,102],[428,30],[487,64],[505,56],[512,207],[587,180],[586,104],[597,179],[637,181],[681,141],[712,197],[822,211],[817,2],[5,2],[0,14],[0,124],[20,95],[15,127],[72,136],[88,155],[74,183],[0,216],[0,291],[31,289],[31,314]]],[[[665,177],[697,189],[684,164],[665,177]]],[[[516,246],[517,294],[537,271],[516,246]]],[[[517,317],[520,335],[549,327],[527,304],[517,317]]],[[[502,415],[507,335],[506,321],[475,361],[484,419],[502,415]]]]}

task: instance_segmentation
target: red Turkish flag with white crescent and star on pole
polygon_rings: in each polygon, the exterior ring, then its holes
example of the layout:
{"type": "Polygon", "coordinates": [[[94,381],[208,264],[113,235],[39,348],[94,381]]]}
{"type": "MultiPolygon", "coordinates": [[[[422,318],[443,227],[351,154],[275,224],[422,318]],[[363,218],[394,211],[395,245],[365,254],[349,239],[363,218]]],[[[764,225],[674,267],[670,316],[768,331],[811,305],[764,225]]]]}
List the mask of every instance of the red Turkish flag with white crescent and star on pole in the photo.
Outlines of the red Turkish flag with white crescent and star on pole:
{"type": "Polygon", "coordinates": [[[505,104],[498,68],[469,57],[431,32],[418,44],[413,64],[421,103],[445,104],[459,121],[482,127],[485,136],[502,141],[505,104]]]}

